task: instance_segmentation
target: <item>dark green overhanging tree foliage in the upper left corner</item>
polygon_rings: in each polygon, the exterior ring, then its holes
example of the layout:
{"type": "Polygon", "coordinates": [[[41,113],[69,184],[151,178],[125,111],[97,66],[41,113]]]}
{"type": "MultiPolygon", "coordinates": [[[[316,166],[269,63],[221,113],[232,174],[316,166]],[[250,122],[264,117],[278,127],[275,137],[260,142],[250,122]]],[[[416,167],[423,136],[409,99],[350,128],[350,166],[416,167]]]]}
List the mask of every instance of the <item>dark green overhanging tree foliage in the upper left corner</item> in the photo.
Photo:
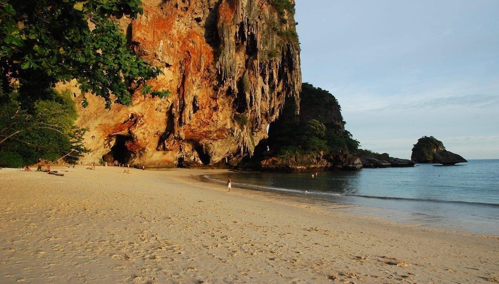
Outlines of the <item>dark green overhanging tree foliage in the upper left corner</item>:
{"type": "MultiPolygon", "coordinates": [[[[133,54],[113,22],[142,13],[140,0],[0,0],[0,103],[19,84],[21,107],[50,97],[58,81],[130,105],[131,93],[160,69],[133,54]]],[[[165,93],[156,93],[164,96],[165,93]]],[[[86,100],[84,100],[86,102],[86,100]]]]}

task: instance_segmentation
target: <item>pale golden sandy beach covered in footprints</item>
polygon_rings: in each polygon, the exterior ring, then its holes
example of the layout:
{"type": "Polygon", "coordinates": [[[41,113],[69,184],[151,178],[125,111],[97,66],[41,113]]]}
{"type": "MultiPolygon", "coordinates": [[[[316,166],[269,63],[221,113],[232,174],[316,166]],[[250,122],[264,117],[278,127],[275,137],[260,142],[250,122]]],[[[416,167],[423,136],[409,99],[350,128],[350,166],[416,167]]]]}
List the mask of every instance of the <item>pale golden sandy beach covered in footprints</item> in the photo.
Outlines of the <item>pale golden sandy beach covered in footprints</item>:
{"type": "Polygon", "coordinates": [[[499,282],[495,238],[199,178],[226,170],[53,169],[0,170],[2,283],[499,282]]]}

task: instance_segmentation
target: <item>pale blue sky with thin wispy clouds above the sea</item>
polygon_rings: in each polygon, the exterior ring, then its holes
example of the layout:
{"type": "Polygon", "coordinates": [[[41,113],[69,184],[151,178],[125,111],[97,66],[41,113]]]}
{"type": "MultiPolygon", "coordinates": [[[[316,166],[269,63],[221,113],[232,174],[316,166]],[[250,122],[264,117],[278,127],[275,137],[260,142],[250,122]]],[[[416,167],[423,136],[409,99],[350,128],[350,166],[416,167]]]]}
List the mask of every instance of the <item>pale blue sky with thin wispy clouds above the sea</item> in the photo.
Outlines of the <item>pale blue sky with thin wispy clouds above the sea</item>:
{"type": "Polygon", "coordinates": [[[433,136],[499,159],[498,0],[296,0],[303,82],[329,91],[360,148],[410,159],[433,136]]]}

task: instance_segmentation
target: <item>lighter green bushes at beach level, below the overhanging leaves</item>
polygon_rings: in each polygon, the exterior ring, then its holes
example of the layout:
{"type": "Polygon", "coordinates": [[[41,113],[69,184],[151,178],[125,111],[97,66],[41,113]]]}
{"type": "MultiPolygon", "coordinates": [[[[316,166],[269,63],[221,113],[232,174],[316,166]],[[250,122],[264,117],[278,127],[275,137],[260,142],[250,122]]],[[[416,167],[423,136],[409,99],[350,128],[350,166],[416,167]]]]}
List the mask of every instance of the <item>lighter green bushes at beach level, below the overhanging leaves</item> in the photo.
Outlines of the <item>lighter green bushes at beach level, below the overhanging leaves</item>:
{"type": "Polygon", "coordinates": [[[88,152],[82,144],[85,129],[73,126],[77,113],[71,94],[52,91],[31,113],[14,96],[0,104],[0,166],[18,167],[39,159],[74,163],[88,152]]]}

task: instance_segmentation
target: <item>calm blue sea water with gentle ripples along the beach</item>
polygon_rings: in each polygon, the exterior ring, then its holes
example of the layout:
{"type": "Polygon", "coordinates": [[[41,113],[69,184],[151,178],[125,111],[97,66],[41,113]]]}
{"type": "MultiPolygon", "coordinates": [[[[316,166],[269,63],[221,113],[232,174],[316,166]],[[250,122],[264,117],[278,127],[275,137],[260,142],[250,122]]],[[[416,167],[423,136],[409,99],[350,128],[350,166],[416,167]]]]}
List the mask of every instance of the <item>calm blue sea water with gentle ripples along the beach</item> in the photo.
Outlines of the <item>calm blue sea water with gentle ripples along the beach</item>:
{"type": "MultiPolygon", "coordinates": [[[[225,183],[227,174],[206,175],[225,183]]],[[[424,228],[499,236],[499,159],[315,173],[232,172],[232,186],[424,228]],[[313,177],[312,177],[313,174],[313,177]]]]}

